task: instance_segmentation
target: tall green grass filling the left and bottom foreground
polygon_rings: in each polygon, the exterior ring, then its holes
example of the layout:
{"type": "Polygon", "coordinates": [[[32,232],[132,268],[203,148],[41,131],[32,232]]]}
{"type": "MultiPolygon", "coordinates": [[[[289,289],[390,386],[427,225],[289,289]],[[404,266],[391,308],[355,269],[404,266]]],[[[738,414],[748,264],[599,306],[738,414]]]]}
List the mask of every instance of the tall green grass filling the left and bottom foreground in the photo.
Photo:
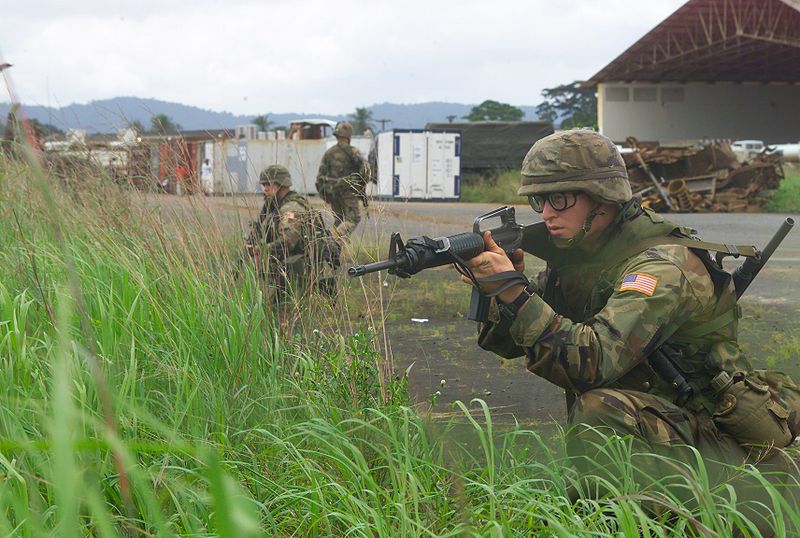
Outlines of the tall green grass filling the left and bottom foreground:
{"type": "Polygon", "coordinates": [[[573,505],[568,488],[597,479],[563,435],[499,432],[477,400],[454,410],[455,441],[411,405],[379,317],[276,310],[231,276],[240,234],[96,179],[64,188],[0,160],[0,534],[753,535],[702,465],[676,463],[688,500],[642,490],[625,439],[607,440],[608,495],[573,505]]]}

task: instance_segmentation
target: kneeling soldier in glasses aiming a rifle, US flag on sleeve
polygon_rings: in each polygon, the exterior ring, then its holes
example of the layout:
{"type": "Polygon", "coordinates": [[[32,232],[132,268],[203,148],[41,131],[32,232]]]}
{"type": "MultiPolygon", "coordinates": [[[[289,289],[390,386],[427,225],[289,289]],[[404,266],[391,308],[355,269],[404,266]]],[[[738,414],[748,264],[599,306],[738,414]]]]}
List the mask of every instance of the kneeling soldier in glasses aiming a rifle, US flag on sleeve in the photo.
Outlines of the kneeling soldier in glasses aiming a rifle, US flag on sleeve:
{"type": "MultiPolygon", "coordinates": [[[[726,465],[794,469],[774,447],[800,431],[800,391],[788,376],[751,367],[738,343],[730,275],[693,231],[641,207],[619,150],[599,133],[537,141],[518,193],[544,221],[526,251],[547,268],[527,288],[497,295],[480,346],[525,356],[528,370],[565,389],[567,449],[582,476],[619,479],[604,450],[611,434],[631,440],[634,477],[645,488],[679,474],[662,456],[691,464],[696,449],[712,487],[732,485],[740,503],[749,501],[742,509],[767,526],[763,486],[726,465]]],[[[523,272],[524,260],[521,250],[509,258],[488,232],[485,242],[487,252],[468,263],[492,292],[506,282],[501,273],[523,272]]],[[[783,495],[797,494],[793,478],[777,480],[789,484],[783,495]]],[[[687,493],[685,485],[671,491],[687,493]]]]}

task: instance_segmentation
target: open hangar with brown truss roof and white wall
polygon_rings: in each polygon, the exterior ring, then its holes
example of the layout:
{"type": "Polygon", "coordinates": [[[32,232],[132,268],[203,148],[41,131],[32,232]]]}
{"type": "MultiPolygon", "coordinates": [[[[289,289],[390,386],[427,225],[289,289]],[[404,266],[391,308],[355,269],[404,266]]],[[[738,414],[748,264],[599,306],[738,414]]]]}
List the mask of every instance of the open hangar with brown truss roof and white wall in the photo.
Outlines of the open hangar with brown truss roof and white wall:
{"type": "Polygon", "coordinates": [[[689,0],[601,69],[616,141],[800,140],[800,0],[689,0]]]}

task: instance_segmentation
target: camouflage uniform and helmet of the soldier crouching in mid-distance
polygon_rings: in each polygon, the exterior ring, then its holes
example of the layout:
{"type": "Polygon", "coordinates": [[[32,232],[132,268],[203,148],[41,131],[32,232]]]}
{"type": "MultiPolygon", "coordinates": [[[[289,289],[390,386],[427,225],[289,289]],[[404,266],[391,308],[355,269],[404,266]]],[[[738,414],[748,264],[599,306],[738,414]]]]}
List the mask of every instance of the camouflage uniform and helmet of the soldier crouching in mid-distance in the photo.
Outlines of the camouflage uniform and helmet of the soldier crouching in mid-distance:
{"type": "MultiPolygon", "coordinates": [[[[289,172],[281,165],[268,167],[260,179],[262,184],[291,186],[289,172]]],[[[280,199],[267,198],[253,223],[252,236],[261,270],[277,275],[279,289],[307,289],[316,284],[325,292],[332,291],[338,245],[305,196],[289,190],[280,199]]]]}

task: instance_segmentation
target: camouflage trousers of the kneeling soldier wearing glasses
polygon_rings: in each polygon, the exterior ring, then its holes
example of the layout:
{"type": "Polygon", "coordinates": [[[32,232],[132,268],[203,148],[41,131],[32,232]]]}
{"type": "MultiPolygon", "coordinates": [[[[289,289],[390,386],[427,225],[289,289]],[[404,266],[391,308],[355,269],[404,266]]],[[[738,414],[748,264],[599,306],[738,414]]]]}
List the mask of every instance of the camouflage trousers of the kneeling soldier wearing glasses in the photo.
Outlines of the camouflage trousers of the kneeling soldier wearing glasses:
{"type": "MultiPolygon", "coordinates": [[[[710,485],[732,485],[740,510],[763,524],[765,530],[774,517],[769,509],[772,504],[769,495],[756,478],[736,471],[733,466],[754,464],[767,479],[773,472],[781,493],[787,499],[794,499],[794,506],[798,506],[797,469],[784,453],[746,450],[720,431],[709,416],[694,414],[652,394],[595,389],[578,396],[570,409],[567,451],[581,476],[598,476],[611,484],[620,483],[620,477],[626,475],[620,462],[627,462],[625,456],[620,458],[620,453],[611,448],[609,437],[614,435],[630,440],[633,479],[641,487],[659,482],[691,505],[690,488],[684,478],[686,469],[681,466],[699,468],[695,465],[698,461],[692,450],[695,449],[703,456],[710,485]]],[[[589,486],[593,496],[609,493],[598,484],[589,486]]],[[[659,512],[657,508],[652,511],[659,512]]]]}

